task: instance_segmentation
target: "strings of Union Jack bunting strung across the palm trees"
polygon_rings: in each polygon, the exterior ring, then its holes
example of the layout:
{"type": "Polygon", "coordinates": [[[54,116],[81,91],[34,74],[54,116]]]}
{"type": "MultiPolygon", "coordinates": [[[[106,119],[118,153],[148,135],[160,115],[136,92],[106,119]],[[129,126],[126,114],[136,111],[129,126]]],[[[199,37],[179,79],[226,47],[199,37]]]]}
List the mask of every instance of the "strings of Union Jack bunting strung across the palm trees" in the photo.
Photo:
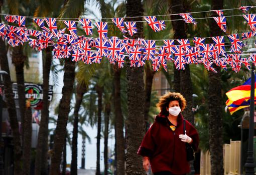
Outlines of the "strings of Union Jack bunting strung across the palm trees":
{"type": "MultiPolygon", "coordinates": [[[[227,54],[225,51],[224,36],[211,37],[212,44],[205,44],[206,38],[194,37],[194,46],[190,45],[189,39],[163,40],[163,45],[157,48],[155,40],[108,38],[107,22],[96,22],[99,37],[90,38],[77,35],[76,21],[63,21],[66,28],[58,30],[55,18],[34,18],[33,21],[42,30],[36,31],[26,28],[26,17],[6,15],[7,22],[17,23],[19,27],[0,24],[0,37],[12,47],[28,42],[30,47],[41,51],[53,46],[53,58],[72,57],[72,61],[83,61],[85,64],[100,63],[102,58],[106,57],[111,64],[117,63],[118,67],[122,68],[125,56],[128,56],[131,67],[142,67],[145,61],[151,61],[154,71],[158,71],[161,67],[167,71],[167,61],[173,61],[176,69],[180,70],[184,70],[187,64],[203,64],[208,71],[216,72],[213,68],[215,64],[224,70],[227,70],[229,65],[233,71],[239,72],[242,64],[247,69],[250,68],[249,62],[256,65],[254,54],[248,58],[241,58],[242,48],[246,46],[242,41],[256,35],[255,14],[247,14],[250,7],[239,9],[245,13],[243,17],[251,31],[242,33],[241,40],[238,34],[227,35],[232,54],[227,54]],[[65,30],[69,34],[66,34],[65,30]]],[[[224,13],[215,12],[219,17],[214,17],[214,20],[220,29],[226,32],[224,13]]],[[[196,24],[191,14],[180,14],[180,16],[185,23],[196,24]]],[[[154,32],[166,29],[164,21],[159,21],[154,16],[144,19],[154,32]]],[[[136,22],[124,22],[123,18],[113,18],[112,22],[122,33],[128,33],[130,36],[137,33],[136,22]]],[[[87,36],[92,35],[93,27],[90,19],[79,19],[79,23],[87,36]]]]}

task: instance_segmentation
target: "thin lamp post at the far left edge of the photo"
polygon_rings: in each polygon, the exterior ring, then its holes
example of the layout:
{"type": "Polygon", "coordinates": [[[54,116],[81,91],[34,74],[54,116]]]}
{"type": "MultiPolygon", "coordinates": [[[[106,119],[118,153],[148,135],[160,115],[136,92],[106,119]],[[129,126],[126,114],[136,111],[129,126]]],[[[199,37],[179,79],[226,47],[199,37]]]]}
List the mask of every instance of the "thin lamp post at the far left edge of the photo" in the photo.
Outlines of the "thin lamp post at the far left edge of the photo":
{"type": "MultiPolygon", "coordinates": [[[[2,83],[4,81],[4,75],[7,75],[8,73],[6,71],[0,71],[0,86],[2,86],[2,83]]],[[[4,160],[3,160],[3,138],[2,138],[2,115],[3,115],[3,89],[2,87],[1,91],[2,94],[0,94],[0,174],[4,174],[4,160]]]]}

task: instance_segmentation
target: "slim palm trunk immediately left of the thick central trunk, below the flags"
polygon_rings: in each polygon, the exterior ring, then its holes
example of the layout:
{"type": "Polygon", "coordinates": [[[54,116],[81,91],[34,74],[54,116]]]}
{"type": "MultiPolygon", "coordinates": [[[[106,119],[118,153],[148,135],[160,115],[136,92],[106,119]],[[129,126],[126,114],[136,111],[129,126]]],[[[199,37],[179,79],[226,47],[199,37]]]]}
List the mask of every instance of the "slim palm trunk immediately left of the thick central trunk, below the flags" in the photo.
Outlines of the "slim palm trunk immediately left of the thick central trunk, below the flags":
{"type": "Polygon", "coordinates": [[[115,64],[114,70],[114,113],[115,113],[115,138],[116,142],[116,174],[124,174],[124,137],[123,137],[123,116],[121,109],[121,69],[115,64]]]}

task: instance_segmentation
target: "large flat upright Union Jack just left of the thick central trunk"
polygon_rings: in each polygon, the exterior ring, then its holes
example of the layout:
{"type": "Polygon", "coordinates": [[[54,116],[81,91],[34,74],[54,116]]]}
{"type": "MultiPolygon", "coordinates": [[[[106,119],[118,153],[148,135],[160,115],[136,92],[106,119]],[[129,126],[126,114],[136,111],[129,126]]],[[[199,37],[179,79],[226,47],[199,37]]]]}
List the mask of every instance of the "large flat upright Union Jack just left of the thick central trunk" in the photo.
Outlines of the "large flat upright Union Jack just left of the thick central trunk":
{"type": "Polygon", "coordinates": [[[107,58],[111,58],[113,61],[116,61],[120,52],[121,40],[108,40],[108,55],[107,58]]]}

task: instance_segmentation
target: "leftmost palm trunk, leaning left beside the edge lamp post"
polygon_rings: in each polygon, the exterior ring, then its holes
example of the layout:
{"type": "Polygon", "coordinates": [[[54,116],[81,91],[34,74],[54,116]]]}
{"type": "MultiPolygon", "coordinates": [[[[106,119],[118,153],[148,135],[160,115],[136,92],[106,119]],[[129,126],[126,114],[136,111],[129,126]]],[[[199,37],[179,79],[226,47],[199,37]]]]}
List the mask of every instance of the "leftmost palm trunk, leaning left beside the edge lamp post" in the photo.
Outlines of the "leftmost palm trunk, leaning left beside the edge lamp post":
{"type": "MultiPolygon", "coordinates": [[[[0,1],[0,10],[3,2],[0,1]]],[[[1,22],[1,21],[0,21],[1,22]]],[[[17,120],[16,105],[14,101],[14,93],[10,77],[10,69],[8,65],[7,51],[5,42],[0,40],[0,65],[1,69],[8,72],[5,75],[4,89],[6,96],[7,109],[9,113],[10,125],[14,136],[14,174],[22,174],[22,148],[21,148],[21,135],[19,133],[19,124],[17,120]]]]}

